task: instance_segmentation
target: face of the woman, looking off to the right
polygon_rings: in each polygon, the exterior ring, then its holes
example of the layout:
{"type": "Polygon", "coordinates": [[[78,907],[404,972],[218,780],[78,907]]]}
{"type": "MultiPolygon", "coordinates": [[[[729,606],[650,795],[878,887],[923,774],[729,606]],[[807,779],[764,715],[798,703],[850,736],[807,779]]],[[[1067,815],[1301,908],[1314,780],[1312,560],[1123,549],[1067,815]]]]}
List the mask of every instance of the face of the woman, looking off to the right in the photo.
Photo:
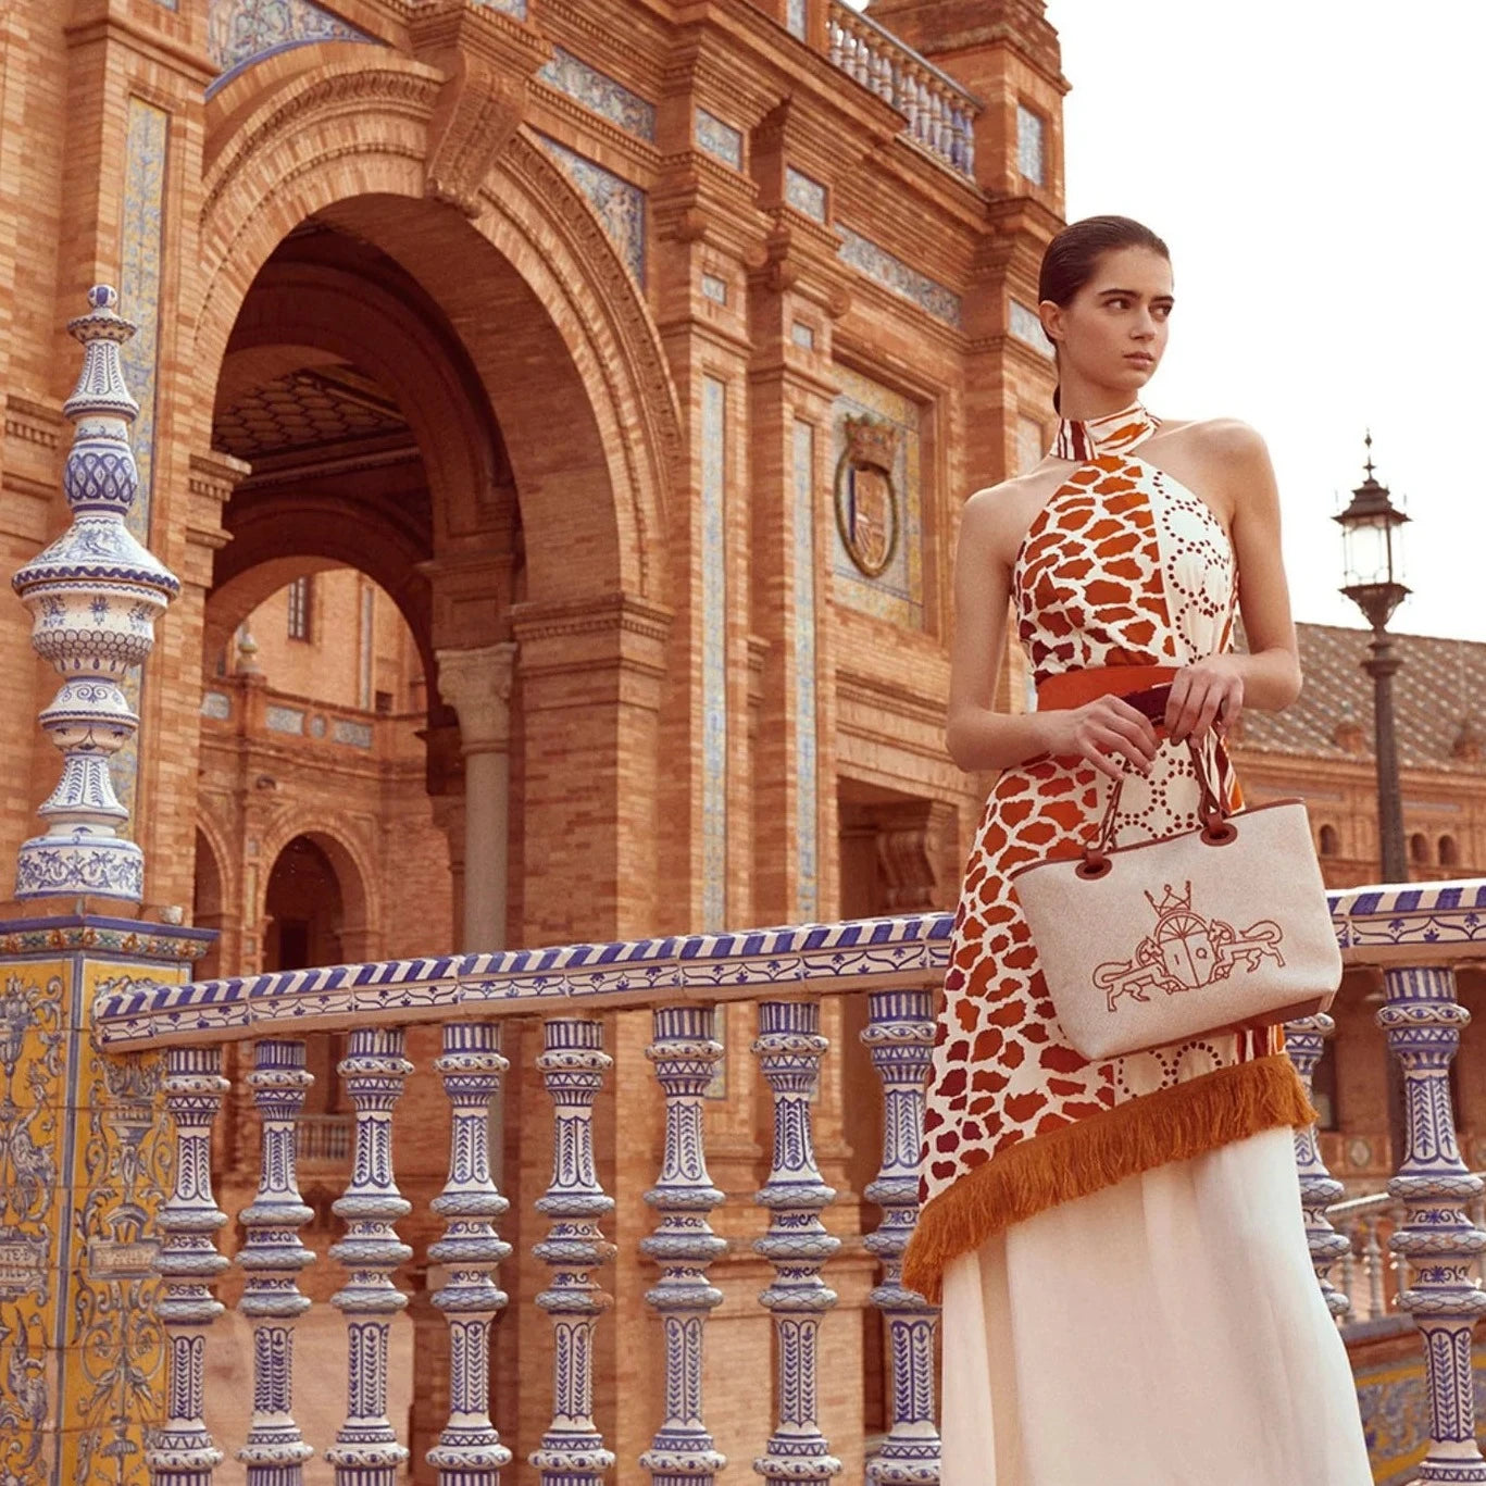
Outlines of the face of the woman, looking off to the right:
{"type": "Polygon", "coordinates": [[[1112,248],[1067,305],[1042,302],[1060,372],[1135,394],[1167,349],[1171,265],[1150,248],[1112,248]]]}

